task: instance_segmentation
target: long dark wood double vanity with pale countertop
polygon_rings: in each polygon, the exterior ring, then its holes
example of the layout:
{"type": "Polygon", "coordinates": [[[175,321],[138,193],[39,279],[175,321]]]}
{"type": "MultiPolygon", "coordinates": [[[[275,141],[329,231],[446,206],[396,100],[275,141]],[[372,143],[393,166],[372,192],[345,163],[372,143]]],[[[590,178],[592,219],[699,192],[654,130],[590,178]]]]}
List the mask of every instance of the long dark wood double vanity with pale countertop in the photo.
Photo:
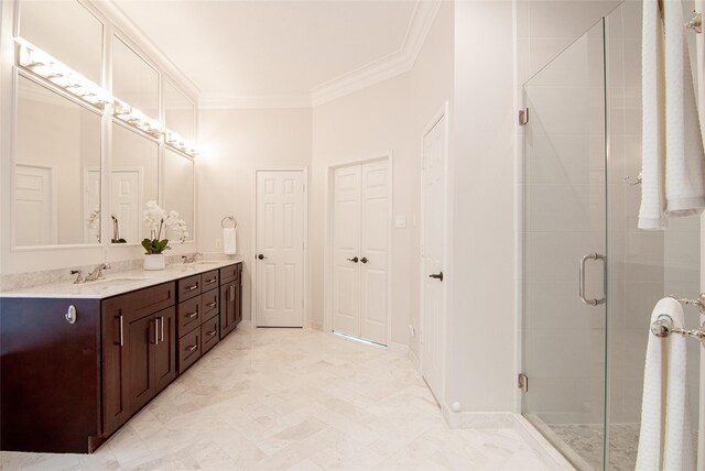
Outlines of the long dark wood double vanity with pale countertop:
{"type": "Polygon", "coordinates": [[[93,452],[242,319],[239,260],[0,294],[2,450],[93,452]]]}

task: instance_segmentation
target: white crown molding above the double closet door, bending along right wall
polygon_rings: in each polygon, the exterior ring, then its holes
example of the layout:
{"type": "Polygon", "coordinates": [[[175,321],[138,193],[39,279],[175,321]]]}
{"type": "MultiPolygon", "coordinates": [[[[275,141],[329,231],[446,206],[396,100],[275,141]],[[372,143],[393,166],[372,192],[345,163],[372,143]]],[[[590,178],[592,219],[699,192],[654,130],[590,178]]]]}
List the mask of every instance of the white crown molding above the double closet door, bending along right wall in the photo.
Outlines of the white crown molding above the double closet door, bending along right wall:
{"type": "Polygon", "coordinates": [[[323,105],[411,70],[442,2],[443,0],[416,1],[400,50],[313,88],[312,105],[323,105]]]}

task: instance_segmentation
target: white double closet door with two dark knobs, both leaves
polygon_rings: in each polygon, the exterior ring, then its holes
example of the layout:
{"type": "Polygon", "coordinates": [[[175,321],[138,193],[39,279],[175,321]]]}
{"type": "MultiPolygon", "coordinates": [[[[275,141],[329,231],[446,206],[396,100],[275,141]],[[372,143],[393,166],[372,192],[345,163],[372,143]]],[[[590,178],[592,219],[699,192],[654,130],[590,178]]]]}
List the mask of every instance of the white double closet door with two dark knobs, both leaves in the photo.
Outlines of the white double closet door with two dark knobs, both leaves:
{"type": "Polygon", "coordinates": [[[389,161],[333,173],[333,330],[387,344],[389,161]]]}

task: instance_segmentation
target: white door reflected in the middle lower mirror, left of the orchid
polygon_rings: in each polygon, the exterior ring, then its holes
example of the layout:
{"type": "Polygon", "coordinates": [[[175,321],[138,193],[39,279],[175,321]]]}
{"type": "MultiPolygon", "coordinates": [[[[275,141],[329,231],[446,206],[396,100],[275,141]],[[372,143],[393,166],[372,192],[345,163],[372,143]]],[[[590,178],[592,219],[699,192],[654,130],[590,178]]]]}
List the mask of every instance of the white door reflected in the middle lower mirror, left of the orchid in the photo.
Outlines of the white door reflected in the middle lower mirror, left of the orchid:
{"type": "MultiPolygon", "coordinates": [[[[141,174],[140,171],[112,171],[110,174],[110,206],[111,216],[117,218],[117,231],[119,238],[129,243],[141,242],[141,239],[150,234],[140,237],[140,224],[142,221],[142,204],[140,201],[141,174]]],[[[115,220],[111,218],[110,239],[116,236],[115,220]]]]}

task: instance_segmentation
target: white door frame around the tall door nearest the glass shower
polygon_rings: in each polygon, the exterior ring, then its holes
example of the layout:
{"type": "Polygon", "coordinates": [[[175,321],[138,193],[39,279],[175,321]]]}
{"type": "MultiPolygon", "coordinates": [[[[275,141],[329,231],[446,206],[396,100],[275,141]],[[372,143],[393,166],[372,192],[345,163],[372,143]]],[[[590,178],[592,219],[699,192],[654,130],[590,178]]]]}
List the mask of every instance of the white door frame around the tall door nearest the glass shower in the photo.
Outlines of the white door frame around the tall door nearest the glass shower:
{"type": "MultiPolygon", "coordinates": [[[[451,124],[449,124],[449,120],[451,120],[451,113],[449,113],[449,103],[448,101],[445,101],[443,103],[443,108],[441,110],[438,110],[434,116],[433,119],[429,122],[427,125],[425,125],[423,128],[423,133],[421,134],[421,143],[420,143],[420,147],[421,147],[421,152],[420,152],[420,158],[419,158],[419,326],[416,326],[416,332],[417,332],[417,337],[416,337],[416,343],[419,346],[419,373],[422,375],[423,377],[423,344],[422,344],[422,338],[423,338],[423,326],[424,326],[424,309],[423,309],[423,302],[424,302],[424,296],[423,296],[423,282],[424,278],[426,276],[426,274],[424,273],[423,270],[423,230],[424,230],[424,210],[423,210],[423,154],[424,154],[424,138],[436,127],[436,124],[438,124],[441,122],[441,120],[443,120],[445,118],[445,129],[443,130],[443,133],[445,135],[445,150],[443,152],[443,160],[445,161],[445,168],[443,172],[443,179],[444,179],[444,185],[445,185],[445,191],[443,195],[443,199],[444,199],[444,205],[445,205],[445,218],[444,218],[444,224],[443,224],[443,229],[445,231],[444,233],[444,248],[443,248],[443,266],[444,266],[444,277],[449,277],[451,278],[451,283],[444,283],[443,284],[443,304],[444,304],[444,311],[443,311],[443,320],[442,320],[442,329],[441,329],[441,342],[443,346],[447,346],[447,336],[446,336],[446,327],[447,327],[447,321],[448,321],[448,313],[451,311],[449,306],[451,306],[451,292],[452,292],[452,286],[453,286],[453,256],[452,256],[452,251],[453,251],[453,198],[451,198],[451,196],[453,195],[453,189],[452,189],[452,185],[453,185],[453,180],[452,178],[449,178],[449,173],[451,173],[451,152],[449,152],[449,147],[451,147],[451,124]]],[[[441,358],[441,391],[438,391],[438,395],[435,397],[436,401],[438,402],[438,404],[441,405],[442,409],[446,408],[445,407],[445,391],[446,391],[446,363],[447,363],[447,347],[443,348],[443,354],[441,358]]],[[[424,380],[425,381],[425,380],[424,380]]]]}

